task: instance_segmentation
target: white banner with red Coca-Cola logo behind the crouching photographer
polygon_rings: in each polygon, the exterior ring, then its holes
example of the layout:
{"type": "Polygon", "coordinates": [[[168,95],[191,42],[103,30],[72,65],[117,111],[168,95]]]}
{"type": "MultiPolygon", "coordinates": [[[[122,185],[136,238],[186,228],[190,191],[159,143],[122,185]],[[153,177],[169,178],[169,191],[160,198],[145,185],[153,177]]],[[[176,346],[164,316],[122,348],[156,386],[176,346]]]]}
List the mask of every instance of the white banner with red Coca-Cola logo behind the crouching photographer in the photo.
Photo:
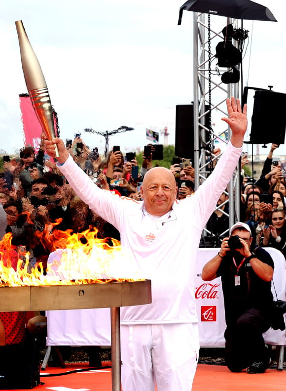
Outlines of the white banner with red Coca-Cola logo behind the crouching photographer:
{"type": "MultiPolygon", "coordinates": [[[[273,281],[278,299],[286,300],[286,262],[282,253],[273,248],[265,249],[271,255],[274,264],[273,281]]],[[[224,302],[220,277],[213,281],[203,281],[201,273],[204,265],[214,258],[218,249],[199,249],[195,276],[195,297],[199,318],[200,346],[223,347],[225,345],[224,302]]],[[[273,297],[276,300],[272,284],[273,297]]],[[[269,345],[286,345],[285,330],[269,329],[264,333],[265,343],[269,345]]]]}

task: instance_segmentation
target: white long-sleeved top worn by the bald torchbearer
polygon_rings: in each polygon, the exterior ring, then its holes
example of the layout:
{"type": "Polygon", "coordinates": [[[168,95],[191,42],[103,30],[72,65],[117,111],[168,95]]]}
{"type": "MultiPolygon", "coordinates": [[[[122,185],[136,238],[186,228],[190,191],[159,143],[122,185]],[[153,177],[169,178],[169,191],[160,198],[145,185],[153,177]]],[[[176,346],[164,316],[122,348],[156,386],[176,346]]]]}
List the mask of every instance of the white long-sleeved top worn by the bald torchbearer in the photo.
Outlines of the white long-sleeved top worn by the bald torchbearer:
{"type": "Polygon", "coordinates": [[[58,165],[76,194],[121,234],[121,245],[134,255],[140,275],[151,279],[152,303],[121,308],[121,324],[197,322],[195,263],[201,232],[225,190],[242,148],[230,142],[214,172],[194,194],[175,200],[173,209],[149,216],[143,201],[100,189],[70,156],[58,165]]]}

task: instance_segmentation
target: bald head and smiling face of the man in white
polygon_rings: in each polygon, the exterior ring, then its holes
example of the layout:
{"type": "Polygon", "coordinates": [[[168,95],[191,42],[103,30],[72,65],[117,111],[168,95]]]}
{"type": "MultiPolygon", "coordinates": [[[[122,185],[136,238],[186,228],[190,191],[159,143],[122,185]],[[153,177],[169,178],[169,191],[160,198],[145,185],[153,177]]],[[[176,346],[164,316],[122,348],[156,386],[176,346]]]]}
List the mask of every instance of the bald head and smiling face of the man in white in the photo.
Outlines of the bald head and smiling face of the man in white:
{"type": "Polygon", "coordinates": [[[174,175],[164,167],[149,170],[143,179],[141,196],[146,211],[153,216],[163,216],[172,209],[177,186],[174,175]]]}

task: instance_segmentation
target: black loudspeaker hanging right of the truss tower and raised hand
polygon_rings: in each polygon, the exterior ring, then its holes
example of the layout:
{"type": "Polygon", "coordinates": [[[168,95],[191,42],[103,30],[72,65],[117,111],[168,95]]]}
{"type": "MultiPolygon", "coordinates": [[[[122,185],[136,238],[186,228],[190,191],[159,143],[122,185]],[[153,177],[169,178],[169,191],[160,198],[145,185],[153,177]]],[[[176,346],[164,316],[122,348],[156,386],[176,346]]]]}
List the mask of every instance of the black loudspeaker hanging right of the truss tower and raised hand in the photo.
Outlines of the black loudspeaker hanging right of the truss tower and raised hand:
{"type": "Polygon", "coordinates": [[[254,94],[250,143],[284,144],[286,129],[286,94],[258,90],[254,94]]]}

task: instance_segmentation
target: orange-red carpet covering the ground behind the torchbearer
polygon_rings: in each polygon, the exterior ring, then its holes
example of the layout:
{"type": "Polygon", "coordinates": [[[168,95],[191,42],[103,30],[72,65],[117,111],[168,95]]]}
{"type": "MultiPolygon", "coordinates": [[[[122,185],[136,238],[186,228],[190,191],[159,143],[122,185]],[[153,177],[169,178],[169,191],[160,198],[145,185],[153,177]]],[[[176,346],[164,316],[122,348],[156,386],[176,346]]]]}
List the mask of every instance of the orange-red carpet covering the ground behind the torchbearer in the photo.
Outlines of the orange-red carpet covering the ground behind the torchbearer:
{"type": "MultiPolygon", "coordinates": [[[[105,364],[110,365],[110,363],[105,364]]],[[[111,391],[110,368],[103,367],[101,370],[45,377],[48,374],[66,373],[85,368],[89,368],[87,363],[67,364],[65,369],[47,367],[45,371],[41,371],[40,379],[44,384],[36,386],[33,390],[111,391]]],[[[268,369],[264,374],[250,375],[246,372],[231,373],[221,365],[198,365],[192,391],[238,391],[240,389],[243,391],[285,391],[286,371],[268,369]]]]}

